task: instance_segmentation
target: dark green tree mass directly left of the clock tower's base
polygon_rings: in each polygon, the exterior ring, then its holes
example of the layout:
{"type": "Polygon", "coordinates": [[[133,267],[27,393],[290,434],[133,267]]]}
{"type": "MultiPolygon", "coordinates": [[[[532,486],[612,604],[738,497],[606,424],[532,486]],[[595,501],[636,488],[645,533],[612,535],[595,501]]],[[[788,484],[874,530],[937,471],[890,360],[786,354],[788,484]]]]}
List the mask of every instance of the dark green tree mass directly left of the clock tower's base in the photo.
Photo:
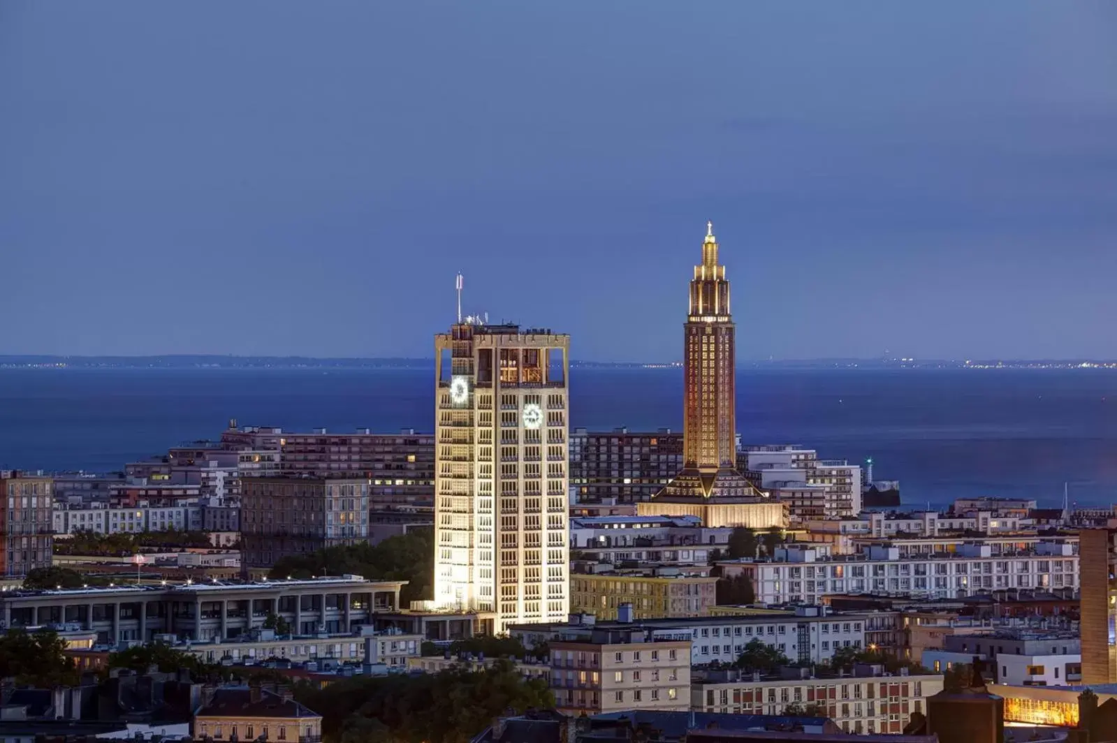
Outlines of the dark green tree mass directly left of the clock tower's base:
{"type": "Polygon", "coordinates": [[[370,580],[408,581],[400,601],[433,598],[435,540],[431,530],[412,530],[379,544],[326,547],[309,554],[289,555],[271,568],[271,578],[312,578],[353,573],[370,580]]]}

